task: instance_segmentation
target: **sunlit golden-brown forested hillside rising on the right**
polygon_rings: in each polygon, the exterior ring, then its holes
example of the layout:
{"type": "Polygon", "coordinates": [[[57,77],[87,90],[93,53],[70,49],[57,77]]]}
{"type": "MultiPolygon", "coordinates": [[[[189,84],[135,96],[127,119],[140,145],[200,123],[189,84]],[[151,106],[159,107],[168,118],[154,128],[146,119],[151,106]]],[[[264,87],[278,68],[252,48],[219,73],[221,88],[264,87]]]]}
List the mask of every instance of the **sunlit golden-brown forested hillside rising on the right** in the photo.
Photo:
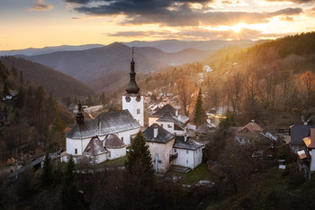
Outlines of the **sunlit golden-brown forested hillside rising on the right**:
{"type": "MultiPolygon", "coordinates": [[[[306,112],[311,116],[315,102],[314,42],[315,32],[309,32],[249,48],[230,46],[201,62],[148,74],[139,81],[139,86],[142,90],[171,87],[168,91],[178,94],[183,87],[176,84],[184,79],[185,89],[190,90],[187,93],[195,96],[202,87],[206,110],[218,111],[225,106],[229,111],[246,115],[247,120],[263,117],[265,123],[276,123],[276,117],[258,111],[266,109],[306,112]],[[209,72],[206,66],[211,68],[209,72]]],[[[301,118],[286,123],[294,122],[301,122],[301,118]]]]}

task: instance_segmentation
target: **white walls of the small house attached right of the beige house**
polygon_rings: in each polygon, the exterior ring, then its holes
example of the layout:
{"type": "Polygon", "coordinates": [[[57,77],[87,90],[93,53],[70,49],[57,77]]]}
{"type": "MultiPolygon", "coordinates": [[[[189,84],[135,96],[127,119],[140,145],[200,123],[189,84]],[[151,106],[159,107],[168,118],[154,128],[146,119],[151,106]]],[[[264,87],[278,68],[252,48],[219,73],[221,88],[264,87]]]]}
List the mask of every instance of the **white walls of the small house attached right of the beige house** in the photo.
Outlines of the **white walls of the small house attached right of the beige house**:
{"type": "Polygon", "coordinates": [[[194,169],[202,163],[202,148],[195,151],[174,148],[173,153],[178,153],[178,157],[173,160],[173,165],[194,169]]]}

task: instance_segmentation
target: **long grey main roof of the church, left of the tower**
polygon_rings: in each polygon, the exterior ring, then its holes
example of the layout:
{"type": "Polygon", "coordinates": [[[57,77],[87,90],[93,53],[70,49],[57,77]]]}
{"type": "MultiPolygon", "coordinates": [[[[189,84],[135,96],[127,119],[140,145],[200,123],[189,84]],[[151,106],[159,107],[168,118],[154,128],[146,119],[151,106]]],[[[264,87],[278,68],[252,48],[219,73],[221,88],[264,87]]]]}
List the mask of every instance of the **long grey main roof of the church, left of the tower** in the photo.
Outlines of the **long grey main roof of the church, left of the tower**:
{"type": "Polygon", "coordinates": [[[110,133],[123,132],[140,128],[139,123],[132,118],[128,110],[111,111],[99,114],[94,120],[77,124],[67,132],[70,139],[85,139],[95,135],[102,136],[110,133]]]}

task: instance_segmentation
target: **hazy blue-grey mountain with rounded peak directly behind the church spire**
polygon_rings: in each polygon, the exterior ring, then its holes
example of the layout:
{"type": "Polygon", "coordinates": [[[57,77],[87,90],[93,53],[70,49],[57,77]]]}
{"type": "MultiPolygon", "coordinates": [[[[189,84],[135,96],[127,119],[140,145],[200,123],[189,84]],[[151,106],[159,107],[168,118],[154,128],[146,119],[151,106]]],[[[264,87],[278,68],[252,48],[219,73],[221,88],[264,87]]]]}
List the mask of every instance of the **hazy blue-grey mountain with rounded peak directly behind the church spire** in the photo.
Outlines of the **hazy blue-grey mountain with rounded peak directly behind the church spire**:
{"type": "MultiPolygon", "coordinates": [[[[24,59],[54,68],[73,78],[88,83],[108,72],[130,70],[131,48],[120,42],[90,50],[58,51],[37,56],[21,56],[24,59]]],[[[166,53],[156,48],[135,48],[134,59],[138,73],[148,73],[158,68],[182,65],[203,59],[211,51],[186,49],[166,53]]],[[[110,81],[112,82],[112,81],[110,81]]]]}

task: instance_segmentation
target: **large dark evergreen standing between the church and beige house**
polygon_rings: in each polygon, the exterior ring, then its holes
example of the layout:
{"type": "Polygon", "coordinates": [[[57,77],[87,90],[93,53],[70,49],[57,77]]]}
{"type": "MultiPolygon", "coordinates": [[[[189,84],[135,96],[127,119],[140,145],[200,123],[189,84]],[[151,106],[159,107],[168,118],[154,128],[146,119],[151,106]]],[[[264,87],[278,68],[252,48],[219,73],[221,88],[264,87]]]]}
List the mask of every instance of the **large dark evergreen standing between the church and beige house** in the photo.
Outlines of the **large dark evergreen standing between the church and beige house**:
{"type": "Polygon", "coordinates": [[[131,143],[130,152],[125,161],[126,169],[137,178],[152,178],[153,167],[148,145],[143,133],[140,131],[131,143]]]}

